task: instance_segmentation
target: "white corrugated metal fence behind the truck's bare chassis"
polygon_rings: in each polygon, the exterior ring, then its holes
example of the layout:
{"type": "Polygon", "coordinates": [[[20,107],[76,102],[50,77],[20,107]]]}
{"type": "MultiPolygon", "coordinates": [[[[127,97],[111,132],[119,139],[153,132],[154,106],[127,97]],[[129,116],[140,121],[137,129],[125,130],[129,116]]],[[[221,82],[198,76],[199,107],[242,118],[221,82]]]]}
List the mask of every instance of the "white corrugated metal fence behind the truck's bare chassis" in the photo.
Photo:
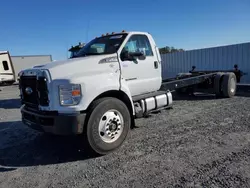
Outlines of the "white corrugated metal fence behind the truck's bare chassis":
{"type": "Polygon", "coordinates": [[[161,54],[162,78],[195,70],[232,70],[235,64],[244,73],[241,83],[250,84],[250,42],[214,48],[161,54]]]}

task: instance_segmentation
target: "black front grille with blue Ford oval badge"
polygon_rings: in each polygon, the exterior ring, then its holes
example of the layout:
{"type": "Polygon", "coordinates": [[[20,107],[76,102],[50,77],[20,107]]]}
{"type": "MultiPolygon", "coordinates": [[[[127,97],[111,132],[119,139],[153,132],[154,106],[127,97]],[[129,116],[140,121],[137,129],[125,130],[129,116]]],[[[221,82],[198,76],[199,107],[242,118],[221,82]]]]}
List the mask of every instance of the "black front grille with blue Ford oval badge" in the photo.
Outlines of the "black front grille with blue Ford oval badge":
{"type": "Polygon", "coordinates": [[[21,100],[23,104],[30,107],[38,105],[48,106],[48,90],[45,77],[21,76],[19,87],[22,91],[21,100]]]}

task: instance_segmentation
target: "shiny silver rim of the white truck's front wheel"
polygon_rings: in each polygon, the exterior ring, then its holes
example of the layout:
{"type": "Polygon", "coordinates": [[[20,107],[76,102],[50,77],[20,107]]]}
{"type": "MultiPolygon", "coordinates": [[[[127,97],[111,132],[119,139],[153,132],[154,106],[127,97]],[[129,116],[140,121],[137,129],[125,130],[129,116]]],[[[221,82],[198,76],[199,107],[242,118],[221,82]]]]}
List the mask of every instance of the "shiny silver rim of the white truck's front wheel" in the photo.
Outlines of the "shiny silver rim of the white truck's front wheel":
{"type": "Polygon", "coordinates": [[[99,136],[106,143],[115,142],[122,134],[124,120],[117,110],[109,110],[103,114],[99,122],[99,136]]]}

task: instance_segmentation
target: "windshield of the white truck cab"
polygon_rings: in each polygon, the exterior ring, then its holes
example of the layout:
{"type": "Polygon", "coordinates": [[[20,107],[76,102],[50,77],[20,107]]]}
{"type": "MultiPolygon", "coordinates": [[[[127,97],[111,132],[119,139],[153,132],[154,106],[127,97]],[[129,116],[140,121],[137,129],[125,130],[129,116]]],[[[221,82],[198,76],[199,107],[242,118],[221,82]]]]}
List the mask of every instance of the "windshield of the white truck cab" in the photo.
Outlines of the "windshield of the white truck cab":
{"type": "Polygon", "coordinates": [[[96,38],[81,48],[74,57],[116,53],[127,34],[116,34],[96,38]]]}

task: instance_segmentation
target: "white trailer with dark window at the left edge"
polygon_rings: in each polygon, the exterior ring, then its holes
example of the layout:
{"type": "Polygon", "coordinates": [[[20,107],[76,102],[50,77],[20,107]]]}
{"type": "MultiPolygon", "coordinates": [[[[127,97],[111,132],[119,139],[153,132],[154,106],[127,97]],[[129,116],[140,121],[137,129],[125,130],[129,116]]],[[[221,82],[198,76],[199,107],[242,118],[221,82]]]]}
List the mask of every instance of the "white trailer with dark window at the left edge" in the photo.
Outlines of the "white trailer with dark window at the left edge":
{"type": "Polygon", "coordinates": [[[12,85],[16,81],[15,70],[8,51],[0,51],[0,84],[12,85]]]}

